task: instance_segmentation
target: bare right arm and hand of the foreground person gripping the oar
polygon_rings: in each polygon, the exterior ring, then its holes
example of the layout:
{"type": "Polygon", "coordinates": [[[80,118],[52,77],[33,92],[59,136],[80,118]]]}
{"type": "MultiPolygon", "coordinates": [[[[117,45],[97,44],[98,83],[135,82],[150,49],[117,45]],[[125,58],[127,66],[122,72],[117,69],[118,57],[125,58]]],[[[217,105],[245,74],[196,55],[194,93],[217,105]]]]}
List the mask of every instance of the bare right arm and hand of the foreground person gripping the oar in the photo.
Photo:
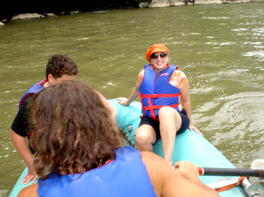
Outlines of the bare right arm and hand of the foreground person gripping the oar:
{"type": "Polygon", "coordinates": [[[201,182],[194,163],[177,162],[175,170],[156,154],[147,151],[141,154],[157,196],[220,197],[218,192],[201,182]]]}

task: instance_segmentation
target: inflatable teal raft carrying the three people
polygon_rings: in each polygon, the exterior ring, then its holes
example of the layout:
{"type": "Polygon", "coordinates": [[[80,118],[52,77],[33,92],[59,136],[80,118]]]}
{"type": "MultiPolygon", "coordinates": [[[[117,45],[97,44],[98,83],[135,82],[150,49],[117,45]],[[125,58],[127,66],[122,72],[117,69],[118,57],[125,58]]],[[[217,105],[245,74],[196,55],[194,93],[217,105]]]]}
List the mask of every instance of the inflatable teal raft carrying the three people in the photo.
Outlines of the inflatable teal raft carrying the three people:
{"type": "MultiPolygon", "coordinates": [[[[120,130],[124,131],[123,135],[131,144],[135,144],[134,132],[137,130],[141,112],[141,103],[132,102],[129,106],[122,106],[116,100],[108,100],[115,109],[118,115],[115,120],[118,123],[120,130]]],[[[153,152],[163,157],[163,148],[161,140],[158,140],[153,146],[153,152]]],[[[223,156],[218,149],[213,147],[204,137],[187,129],[184,133],[177,135],[175,146],[172,152],[172,163],[176,161],[191,161],[199,167],[203,168],[235,168],[230,161],[223,156]]],[[[27,168],[23,171],[16,182],[9,197],[15,197],[19,191],[25,186],[21,185],[21,180],[27,174],[27,168]]],[[[218,176],[200,176],[204,184],[212,184],[216,182],[225,182],[227,180],[238,179],[239,177],[218,177],[218,176]]],[[[30,184],[27,184],[27,186],[30,184]]],[[[241,186],[235,186],[233,189],[222,191],[219,193],[222,197],[247,197],[244,189],[241,186]]]]}

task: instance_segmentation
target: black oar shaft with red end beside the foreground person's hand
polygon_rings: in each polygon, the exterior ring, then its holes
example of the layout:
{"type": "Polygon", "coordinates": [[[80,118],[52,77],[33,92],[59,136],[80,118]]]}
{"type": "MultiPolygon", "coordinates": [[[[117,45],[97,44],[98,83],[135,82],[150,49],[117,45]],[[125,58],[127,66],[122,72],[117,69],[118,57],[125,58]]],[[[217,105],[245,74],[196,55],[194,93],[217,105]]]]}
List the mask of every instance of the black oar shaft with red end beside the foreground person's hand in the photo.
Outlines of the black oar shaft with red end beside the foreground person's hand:
{"type": "Polygon", "coordinates": [[[264,170],[237,168],[198,168],[199,175],[234,176],[234,177],[264,177],[264,170]]]}

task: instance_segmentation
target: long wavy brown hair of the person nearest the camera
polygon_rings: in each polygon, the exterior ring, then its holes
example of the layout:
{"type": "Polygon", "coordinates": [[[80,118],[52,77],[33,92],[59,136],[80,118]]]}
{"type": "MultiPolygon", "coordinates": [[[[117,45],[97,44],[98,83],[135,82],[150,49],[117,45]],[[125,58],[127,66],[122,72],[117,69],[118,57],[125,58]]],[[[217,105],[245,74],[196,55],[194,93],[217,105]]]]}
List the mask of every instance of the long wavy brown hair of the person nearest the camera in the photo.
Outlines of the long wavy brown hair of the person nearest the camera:
{"type": "Polygon", "coordinates": [[[81,81],[63,81],[34,95],[30,104],[30,146],[34,168],[46,179],[51,172],[85,172],[115,159],[122,146],[118,127],[99,95],[81,81]]]}

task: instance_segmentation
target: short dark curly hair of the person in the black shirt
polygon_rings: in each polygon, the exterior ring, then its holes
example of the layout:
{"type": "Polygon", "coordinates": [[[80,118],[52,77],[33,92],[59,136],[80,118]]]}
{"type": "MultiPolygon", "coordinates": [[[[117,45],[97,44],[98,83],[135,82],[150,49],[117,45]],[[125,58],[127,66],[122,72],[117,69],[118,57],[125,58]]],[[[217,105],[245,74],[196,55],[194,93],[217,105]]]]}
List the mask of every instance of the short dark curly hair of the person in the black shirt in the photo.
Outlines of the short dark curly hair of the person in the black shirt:
{"type": "Polygon", "coordinates": [[[63,74],[77,75],[78,67],[68,55],[56,54],[52,55],[46,64],[46,79],[52,74],[55,79],[60,78],[63,74]]]}

